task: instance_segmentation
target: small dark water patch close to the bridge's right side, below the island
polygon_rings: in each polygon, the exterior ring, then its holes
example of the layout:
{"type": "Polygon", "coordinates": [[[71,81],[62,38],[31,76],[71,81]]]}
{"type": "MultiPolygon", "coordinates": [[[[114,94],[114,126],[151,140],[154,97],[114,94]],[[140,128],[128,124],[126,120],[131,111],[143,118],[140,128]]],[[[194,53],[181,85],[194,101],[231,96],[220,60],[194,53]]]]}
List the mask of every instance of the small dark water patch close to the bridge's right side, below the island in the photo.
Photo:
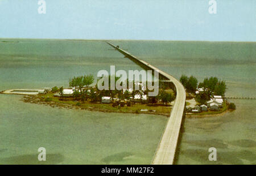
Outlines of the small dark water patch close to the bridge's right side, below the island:
{"type": "Polygon", "coordinates": [[[184,141],[185,143],[188,143],[189,145],[196,145],[197,147],[213,147],[217,146],[217,148],[228,148],[228,144],[225,144],[224,141],[218,140],[218,139],[212,139],[212,140],[189,140],[184,141]]]}

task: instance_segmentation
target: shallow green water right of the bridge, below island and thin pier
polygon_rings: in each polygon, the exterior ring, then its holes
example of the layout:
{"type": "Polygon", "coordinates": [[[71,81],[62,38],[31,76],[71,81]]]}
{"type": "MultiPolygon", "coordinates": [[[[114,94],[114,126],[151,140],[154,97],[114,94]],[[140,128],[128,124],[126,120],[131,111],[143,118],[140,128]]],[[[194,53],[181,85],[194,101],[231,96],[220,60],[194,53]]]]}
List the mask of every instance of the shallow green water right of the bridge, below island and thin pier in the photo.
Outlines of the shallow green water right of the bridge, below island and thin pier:
{"type": "Polygon", "coordinates": [[[230,113],[185,119],[176,164],[256,164],[256,100],[232,102],[237,110],[230,113]],[[209,161],[210,147],[217,161],[209,161]]]}

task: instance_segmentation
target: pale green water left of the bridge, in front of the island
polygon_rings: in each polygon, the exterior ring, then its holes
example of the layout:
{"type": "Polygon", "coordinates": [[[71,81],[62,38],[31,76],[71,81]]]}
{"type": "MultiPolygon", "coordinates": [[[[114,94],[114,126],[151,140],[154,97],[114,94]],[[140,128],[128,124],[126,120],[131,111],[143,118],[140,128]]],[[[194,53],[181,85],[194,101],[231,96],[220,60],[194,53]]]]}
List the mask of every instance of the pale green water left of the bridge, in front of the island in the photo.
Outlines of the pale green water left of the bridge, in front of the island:
{"type": "Polygon", "coordinates": [[[0,164],[150,164],[167,117],[100,113],[0,97],[0,164]],[[46,148],[46,162],[38,148],[46,148]]]}

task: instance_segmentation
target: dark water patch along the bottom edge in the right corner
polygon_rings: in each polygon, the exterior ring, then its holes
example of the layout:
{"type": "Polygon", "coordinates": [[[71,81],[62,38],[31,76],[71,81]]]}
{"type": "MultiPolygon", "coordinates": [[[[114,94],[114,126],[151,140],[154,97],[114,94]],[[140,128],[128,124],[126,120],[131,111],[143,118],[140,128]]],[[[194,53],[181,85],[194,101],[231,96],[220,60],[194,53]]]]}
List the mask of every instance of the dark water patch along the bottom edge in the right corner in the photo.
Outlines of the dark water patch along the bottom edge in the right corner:
{"type": "Polygon", "coordinates": [[[208,156],[210,153],[207,149],[187,149],[181,151],[181,154],[201,164],[244,164],[242,159],[254,163],[256,158],[255,154],[250,151],[219,152],[218,149],[217,161],[209,161],[208,156]]]}

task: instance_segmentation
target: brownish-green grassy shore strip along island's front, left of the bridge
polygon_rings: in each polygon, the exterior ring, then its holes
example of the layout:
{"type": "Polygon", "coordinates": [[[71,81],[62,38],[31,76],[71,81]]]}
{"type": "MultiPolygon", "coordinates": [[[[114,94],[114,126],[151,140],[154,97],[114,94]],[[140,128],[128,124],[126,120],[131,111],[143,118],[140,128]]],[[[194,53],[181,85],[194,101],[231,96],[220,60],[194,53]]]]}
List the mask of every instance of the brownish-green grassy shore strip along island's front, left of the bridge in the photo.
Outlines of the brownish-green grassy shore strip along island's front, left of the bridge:
{"type": "Polygon", "coordinates": [[[150,114],[162,114],[169,115],[171,111],[170,105],[161,104],[141,104],[135,103],[131,106],[124,107],[113,107],[112,104],[102,104],[100,102],[91,101],[75,101],[73,97],[55,97],[54,93],[47,93],[46,95],[37,95],[35,98],[41,102],[48,102],[49,104],[55,103],[56,105],[68,104],[75,106],[80,109],[98,110],[105,112],[116,112],[116,113],[150,113],[150,114]],[[62,100],[61,100],[62,99],[62,100]],[[141,109],[147,109],[148,111],[141,111],[141,109]]]}

